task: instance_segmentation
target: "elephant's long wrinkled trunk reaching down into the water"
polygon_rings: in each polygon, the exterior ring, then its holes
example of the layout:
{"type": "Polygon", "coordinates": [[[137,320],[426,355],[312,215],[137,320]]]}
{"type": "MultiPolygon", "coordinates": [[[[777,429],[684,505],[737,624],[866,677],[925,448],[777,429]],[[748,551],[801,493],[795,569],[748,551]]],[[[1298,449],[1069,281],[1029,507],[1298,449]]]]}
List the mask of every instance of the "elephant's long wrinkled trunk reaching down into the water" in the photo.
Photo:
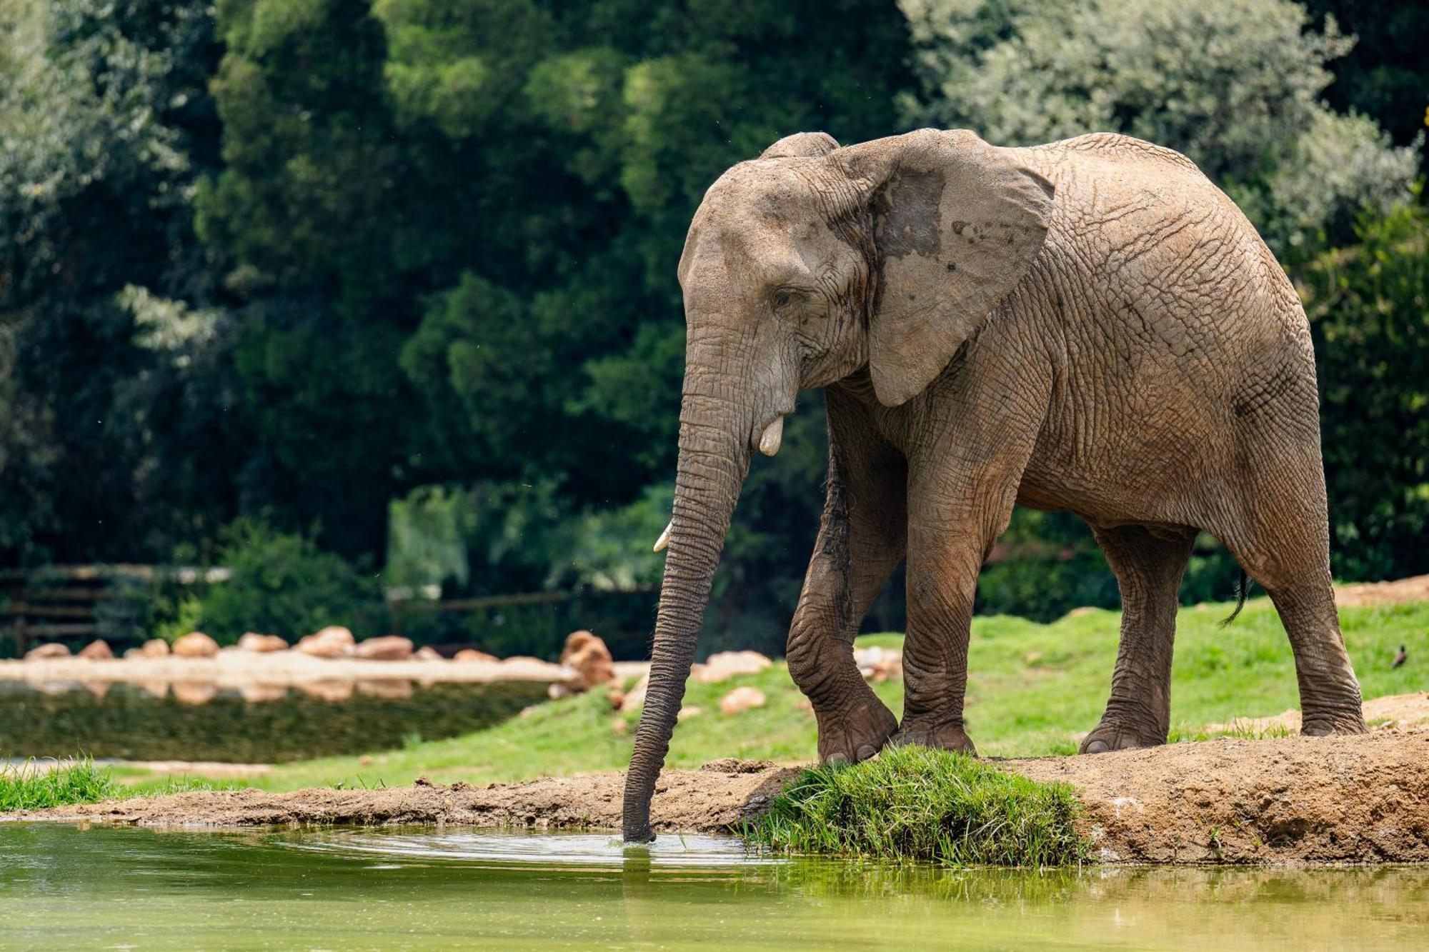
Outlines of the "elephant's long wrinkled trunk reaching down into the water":
{"type": "Polygon", "coordinates": [[[654,839],[650,799],[684,699],[710,579],[749,470],[753,413],[732,399],[727,380],[719,380],[706,367],[692,362],[684,377],[674,512],[654,623],[650,682],[626,772],[622,815],[626,842],[654,839]]]}

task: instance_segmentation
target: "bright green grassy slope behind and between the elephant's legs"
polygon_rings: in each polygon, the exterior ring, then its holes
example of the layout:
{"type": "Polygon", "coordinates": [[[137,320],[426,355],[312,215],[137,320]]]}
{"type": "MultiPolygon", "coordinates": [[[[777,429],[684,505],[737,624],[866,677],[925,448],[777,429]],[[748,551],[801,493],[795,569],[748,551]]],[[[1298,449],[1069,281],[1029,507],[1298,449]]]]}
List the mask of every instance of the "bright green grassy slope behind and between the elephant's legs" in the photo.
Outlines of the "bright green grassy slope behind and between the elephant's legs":
{"type": "MultiPolygon", "coordinates": [[[[1285,632],[1266,599],[1253,599],[1226,629],[1216,622],[1229,605],[1200,605],[1180,613],[1172,688],[1172,722],[1180,735],[1240,716],[1275,715],[1296,706],[1295,669],[1285,632]]],[[[1345,639],[1366,698],[1429,689],[1429,603],[1345,609],[1345,639]],[[1412,660],[1389,662],[1400,643],[1412,660]]],[[[1070,753],[1075,735],[1092,729],[1106,702],[1116,658],[1117,613],[1089,610],[1052,625],[1016,618],[973,620],[969,733],[979,752],[995,756],[1070,753]]],[[[863,645],[900,645],[900,635],[872,635],[863,645]]],[[[895,713],[900,683],[875,688],[895,713]]],[[[690,683],[686,718],[670,748],[673,766],[697,766],[722,756],[806,762],[815,755],[813,715],[783,665],[720,685],[690,683]],[[733,686],[760,688],[769,703],[733,718],[719,699],[733,686]]],[[[636,715],[616,715],[603,692],[540,705],[527,716],[450,740],[357,758],[327,758],[279,768],[257,786],[404,785],[426,775],[437,782],[514,780],[543,775],[624,768],[636,715]],[[612,730],[624,719],[627,732],[612,730]]]]}

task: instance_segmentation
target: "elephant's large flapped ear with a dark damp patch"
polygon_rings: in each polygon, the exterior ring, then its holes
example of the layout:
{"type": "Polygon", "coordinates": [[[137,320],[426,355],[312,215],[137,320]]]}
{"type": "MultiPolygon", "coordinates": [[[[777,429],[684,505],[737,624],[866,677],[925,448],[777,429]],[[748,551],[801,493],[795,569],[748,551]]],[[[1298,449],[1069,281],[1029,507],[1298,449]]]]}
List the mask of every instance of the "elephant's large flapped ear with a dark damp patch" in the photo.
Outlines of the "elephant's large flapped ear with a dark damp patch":
{"type": "Polygon", "coordinates": [[[1042,250],[1053,186],[1009,149],[932,129],[840,150],[879,264],[869,372],[879,402],[922,393],[1042,250]]]}

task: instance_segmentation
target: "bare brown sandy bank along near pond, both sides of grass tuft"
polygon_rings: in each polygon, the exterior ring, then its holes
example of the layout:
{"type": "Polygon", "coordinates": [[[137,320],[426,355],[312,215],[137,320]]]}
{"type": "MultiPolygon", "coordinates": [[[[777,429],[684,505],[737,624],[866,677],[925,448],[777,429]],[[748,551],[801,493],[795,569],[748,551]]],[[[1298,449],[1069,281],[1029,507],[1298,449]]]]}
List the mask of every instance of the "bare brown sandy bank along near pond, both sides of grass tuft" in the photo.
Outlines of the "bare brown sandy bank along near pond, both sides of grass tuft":
{"type": "MultiPolygon", "coordinates": [[[[1429,861],[1429,730],[1208,740],[1000,766],[1070,783],[1086,806],[1085,832],[1103,862],[1429,861]]],[[[652,810],[656,829],[727,830],[762,810],[795,773],[793,768],[732,759],[699,770],[666,770],[652,810]]],[[[177,793],[6,819],[614,829],[620,790],[619,773],[480,788],[419,780],[379,790],[177,793]]]]}

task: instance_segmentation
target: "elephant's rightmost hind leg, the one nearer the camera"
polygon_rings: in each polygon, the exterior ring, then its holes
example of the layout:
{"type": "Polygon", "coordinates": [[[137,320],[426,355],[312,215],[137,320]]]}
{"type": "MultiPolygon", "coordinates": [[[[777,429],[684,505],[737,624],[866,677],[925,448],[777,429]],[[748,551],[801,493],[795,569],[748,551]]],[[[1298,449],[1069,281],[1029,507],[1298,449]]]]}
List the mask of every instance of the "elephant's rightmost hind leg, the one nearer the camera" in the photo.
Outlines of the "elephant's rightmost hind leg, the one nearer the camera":
{"type": "MultiPolygon", "coordinates": [[[[1280,440],[1283,443],[1283,437],[1280,440]]],[[[1216,532],[1269,595],[1295,653],[1300,732],[1363,733],[1359,679],[1340,635],[1330,585],[1325,477],[1318,439],[1253,466],[1243,512],[1216,532]]]]}

